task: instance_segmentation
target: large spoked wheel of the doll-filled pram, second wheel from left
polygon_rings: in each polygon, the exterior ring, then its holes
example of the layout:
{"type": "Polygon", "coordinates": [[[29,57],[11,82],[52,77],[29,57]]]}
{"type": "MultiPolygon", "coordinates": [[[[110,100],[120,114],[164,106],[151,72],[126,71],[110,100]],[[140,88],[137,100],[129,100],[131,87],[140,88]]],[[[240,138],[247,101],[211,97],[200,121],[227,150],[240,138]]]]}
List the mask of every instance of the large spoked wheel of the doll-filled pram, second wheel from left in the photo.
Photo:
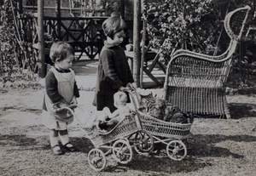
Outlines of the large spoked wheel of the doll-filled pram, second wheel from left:
{"type": "Polygon", "coordinates": [[[131,145],[126,140],[119,139],[113,143],[113,159],[117,162],[127,164],[131,162],[132,156],[131,145]]]}

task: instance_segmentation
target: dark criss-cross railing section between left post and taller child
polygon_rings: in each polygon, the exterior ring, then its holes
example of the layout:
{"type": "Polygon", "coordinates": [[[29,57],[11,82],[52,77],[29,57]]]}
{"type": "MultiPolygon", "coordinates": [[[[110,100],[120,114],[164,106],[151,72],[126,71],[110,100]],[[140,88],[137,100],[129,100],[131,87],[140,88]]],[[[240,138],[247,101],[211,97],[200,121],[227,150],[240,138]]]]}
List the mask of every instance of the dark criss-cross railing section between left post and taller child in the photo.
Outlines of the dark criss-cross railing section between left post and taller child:
{"type": "MultiPolygon", "coordinates": [[[[44,17],[44,31],[53,41],[70,43],[79,59],[85,54],[90,60],[102,49],[102,22],[105,17],[44,17]]],[[[37,21],[37,20],[36,20],[37,21]]],[[[37,42],[37,41],[35,41],[37,42]]]]}

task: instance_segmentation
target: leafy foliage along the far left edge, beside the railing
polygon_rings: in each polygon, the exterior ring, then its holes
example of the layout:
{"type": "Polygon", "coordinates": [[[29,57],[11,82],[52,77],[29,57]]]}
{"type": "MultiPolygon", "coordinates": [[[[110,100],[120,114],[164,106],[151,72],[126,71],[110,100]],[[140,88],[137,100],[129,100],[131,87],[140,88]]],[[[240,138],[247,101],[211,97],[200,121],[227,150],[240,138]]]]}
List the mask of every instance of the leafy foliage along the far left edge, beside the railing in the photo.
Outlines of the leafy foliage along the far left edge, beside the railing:
{"type": "Polygon", "coordinates": [[[17,71],[15,60],[15,46],[17,44],[15,41],[15,24],[10,7],[10,0],[4,1],[3,5],[0,7],[0,76],[3,79],[2,81],[8,80],[11,75],[17,71]]]}

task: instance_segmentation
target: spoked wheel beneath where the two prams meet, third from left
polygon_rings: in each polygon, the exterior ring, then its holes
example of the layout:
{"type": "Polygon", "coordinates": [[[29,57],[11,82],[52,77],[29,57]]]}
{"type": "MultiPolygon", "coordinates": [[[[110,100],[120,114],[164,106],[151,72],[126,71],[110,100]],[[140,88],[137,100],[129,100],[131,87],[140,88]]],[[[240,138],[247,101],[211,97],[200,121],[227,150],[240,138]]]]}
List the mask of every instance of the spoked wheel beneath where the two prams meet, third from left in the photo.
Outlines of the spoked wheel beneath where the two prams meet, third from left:
{"type": "Polygon", "coordinates": [[[145,131],[138,131],[137,133],[133,133],[130,139],[135,143],[134,149],[137,153],[145,153],[150,152],[154,148],[154,140],[151,134],[145,131]]]}

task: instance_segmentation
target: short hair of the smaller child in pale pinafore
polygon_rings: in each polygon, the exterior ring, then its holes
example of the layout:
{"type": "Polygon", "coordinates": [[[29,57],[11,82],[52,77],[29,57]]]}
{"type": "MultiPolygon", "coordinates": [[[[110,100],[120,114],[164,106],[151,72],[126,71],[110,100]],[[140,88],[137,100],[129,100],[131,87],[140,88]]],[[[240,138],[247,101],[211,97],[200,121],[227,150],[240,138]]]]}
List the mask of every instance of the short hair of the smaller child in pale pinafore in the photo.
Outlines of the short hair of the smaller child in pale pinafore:
{"type": "Polygon", "coordinates": [[[57,59],[59,61],[64,60],[67,57],[67,52],[74,55],[74,50],[70,44],[64,42],[53,43],[49,50],[50,60],[54,63],[57,59]]]}

